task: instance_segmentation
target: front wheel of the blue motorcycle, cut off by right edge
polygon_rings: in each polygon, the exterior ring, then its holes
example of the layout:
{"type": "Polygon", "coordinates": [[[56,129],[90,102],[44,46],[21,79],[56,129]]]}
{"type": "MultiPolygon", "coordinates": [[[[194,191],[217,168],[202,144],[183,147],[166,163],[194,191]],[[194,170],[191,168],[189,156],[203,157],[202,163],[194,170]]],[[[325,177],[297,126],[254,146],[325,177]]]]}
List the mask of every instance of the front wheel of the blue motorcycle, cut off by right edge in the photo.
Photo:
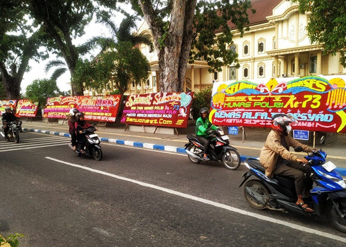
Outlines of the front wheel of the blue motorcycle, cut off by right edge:
{"type": "MultiPolygon", "coordinates": [[[[346,198],[339,198],[335,200],[335,202],[339,210],[346,215],[346,198]]],[[[326,206],[326,218],[331,226],[346,233],[346,218],[340,217],[331,201],[329,201],[326,206]]]]}

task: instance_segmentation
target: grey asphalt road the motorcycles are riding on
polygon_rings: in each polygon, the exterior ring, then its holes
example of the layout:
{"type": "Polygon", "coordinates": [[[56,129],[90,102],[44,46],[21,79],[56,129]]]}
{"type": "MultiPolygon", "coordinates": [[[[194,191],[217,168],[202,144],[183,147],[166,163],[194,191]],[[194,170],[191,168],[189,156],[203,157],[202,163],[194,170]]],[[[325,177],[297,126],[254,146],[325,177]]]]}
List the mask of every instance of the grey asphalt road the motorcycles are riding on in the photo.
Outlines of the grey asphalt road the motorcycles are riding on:
{"type": "Polygon", "coordinates": [[[69,139],[21,133],[0,141],[0,233],[25,247],[345,246],[324,219],[251,208],[246,167],[101,143],[102,161],[69,139]]]}

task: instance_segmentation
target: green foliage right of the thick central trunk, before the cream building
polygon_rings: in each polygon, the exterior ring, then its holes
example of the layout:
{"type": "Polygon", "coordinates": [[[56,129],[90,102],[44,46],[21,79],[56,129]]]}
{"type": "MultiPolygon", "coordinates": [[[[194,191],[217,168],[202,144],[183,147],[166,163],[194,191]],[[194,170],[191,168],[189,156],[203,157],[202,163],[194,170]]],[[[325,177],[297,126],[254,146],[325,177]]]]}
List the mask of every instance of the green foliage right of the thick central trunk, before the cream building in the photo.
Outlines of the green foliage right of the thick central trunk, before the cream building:
{"type": "MultiPolygon", "coordinates": [[[[233,43],[229,21],[240,31],[242,37],[244,31],[250,24],[247,10],[251,8],[250,0],[219,0],[199,1],[196,5],[195,26],[198,39],[192,42],[192,49],[197,52],[190,53],[189,62],[193,63],[195,58],[206,57],[209,72],[220,72],[222,66],[233,62],[238,64],[238,54],[230,50],[228,46],[233,43]],[[216,30],[221,31],[216,36],[216,30]]],[[[252,9],[254,13],[255,10],[252,9]]]]}

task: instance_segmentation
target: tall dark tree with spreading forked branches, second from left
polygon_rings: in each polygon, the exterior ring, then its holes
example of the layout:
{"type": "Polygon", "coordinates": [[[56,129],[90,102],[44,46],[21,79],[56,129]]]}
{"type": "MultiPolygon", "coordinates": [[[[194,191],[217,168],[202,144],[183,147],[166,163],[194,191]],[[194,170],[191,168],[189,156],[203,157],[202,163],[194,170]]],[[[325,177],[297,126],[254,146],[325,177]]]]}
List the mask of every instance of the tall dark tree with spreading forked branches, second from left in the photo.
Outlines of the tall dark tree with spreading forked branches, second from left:
{"type": "MultiPolygon", "coordinates": [[[[115,8],[116,0],[29,0],[30,11],[36,21],[43,25],[49,47],[62,54],[73,82],[79,53],[72,40],[84,34],[99,7],[115,8]]],[[[102,12],[107,13],[107,12],[102,12]]],[[[83,95],[83,84],[73,84],[73,95],[83,95]]]]}

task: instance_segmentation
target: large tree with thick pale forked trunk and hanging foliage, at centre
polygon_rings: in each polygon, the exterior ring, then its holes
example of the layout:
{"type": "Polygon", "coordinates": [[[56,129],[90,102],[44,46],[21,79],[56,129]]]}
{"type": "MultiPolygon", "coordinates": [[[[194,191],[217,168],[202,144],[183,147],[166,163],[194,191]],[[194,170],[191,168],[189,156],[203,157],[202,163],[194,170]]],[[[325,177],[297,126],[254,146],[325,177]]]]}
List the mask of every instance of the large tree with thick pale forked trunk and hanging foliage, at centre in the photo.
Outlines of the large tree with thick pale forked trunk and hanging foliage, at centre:
{"type": "Polygon", "coordinates": [[[249,24],[250,0],[123,1],[131,2],[152,32],[159,58],[161,91],[183,90],[190,54],[190,61],[208,55],[211,71],[221,71],[223,65],[237,62],[237,54],[227,49],[227,44],[232,43],[228,21],[231,20],[242,35],[244,26],[249,24]],[[198,50],[190,53],[194,47],[198,50]]]}

